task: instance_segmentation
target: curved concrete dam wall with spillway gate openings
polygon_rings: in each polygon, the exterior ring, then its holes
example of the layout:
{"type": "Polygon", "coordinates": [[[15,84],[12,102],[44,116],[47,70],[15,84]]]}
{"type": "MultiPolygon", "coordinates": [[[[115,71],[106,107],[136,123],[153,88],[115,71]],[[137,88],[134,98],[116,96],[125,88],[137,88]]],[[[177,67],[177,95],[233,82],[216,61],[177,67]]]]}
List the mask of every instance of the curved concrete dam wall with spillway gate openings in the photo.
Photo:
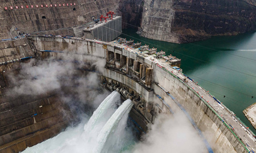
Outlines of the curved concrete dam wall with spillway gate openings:
{"type": "MultiPolygon", "coordinates": [[[[237,133],[206,101],[208,97],[212,98],[211,95],[203,93],[206,91],[201,87],[200,94],[193,90],[191,84],[195,88],[198,85],[192,81],[187,83],[187,77],[169,64],[114,41],[105,43],[39,36],[30,36],[28,39],[34,43],[37,51],[83,54],[95,57],[98,62],[105,64],[102,80],[106,85],[116,86],[118,90],[125,89],[141,97],[136,98],[138,104],[135,105],[137,113],[144,118],[139,124],[154,122],[154,116],[158,113],[175,115],[184,108],[183,111],[190,115],[214,152],[249,152],[245,142],[238,138],[237,133]]],[[[145,125],[141,127],[146,130],[145,125]]]]}

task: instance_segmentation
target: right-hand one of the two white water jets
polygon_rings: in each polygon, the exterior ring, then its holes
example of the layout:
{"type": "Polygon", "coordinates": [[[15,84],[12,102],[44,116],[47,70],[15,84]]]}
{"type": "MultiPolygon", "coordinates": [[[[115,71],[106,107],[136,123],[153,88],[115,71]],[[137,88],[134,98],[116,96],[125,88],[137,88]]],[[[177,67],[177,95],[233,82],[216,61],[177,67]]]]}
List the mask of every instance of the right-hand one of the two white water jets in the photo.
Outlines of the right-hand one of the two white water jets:
{"type": "MultiPolygon", "coordinates": [[[[101,132],[99,133],[99,136],[97,138],[98,143],[93,150],[94,153],[102,153],[102,152],[109,151],[107,148],[105,148],[106,141],[108,140],[109,135],[114,133],[119,121],[124,116],[125,116],[124,120],[127,120],[128,113],[131,110],[132,105],[133,105],[132,101],[130,99],[127,99],[120,107],[118,107],[115,113],[109,118],[108,122],[106,122],[101,132]]],[[[119,128],[122,128],[122,127],[119,127],[119,128]]]]}

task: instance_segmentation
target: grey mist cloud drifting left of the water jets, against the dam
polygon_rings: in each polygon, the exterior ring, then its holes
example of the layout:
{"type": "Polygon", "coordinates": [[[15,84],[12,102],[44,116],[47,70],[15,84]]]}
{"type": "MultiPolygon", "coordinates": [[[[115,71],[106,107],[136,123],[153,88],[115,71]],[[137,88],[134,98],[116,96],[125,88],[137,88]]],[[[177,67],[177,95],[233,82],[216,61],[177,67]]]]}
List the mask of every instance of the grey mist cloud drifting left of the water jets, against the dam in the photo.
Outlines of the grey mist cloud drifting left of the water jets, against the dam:
{"type": "Polygon", "coordinates": [[[100,86],[99,75],[105,59],[82,55],[79,51],[40,55],[42,58],[20,63],[20,70],[8,72],[12,86],[6,91],[9,97],[58,94],[71,109],[94,110],[109,94],[100,86]]]}

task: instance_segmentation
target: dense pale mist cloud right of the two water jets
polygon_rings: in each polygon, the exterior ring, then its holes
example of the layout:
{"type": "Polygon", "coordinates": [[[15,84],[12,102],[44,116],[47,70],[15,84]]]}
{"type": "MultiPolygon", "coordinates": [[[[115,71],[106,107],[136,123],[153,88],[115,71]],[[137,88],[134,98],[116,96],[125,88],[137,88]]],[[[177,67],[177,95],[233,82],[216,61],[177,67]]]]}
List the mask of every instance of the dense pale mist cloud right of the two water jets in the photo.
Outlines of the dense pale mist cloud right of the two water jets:
{"type": "Polygon", "coordinates": [[[204,143],[184,114],[160,114],[133,153],[205,153],[204,143]]]}

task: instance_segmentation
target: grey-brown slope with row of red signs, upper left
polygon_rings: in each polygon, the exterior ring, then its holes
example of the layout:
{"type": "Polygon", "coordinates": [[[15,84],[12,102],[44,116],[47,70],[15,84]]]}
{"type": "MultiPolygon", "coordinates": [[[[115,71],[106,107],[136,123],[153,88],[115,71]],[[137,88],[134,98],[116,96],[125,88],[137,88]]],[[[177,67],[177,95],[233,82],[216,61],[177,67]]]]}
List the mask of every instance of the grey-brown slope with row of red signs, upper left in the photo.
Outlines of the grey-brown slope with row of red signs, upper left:
{"type": "MultiPolygon", "coordinates": [[[[13,38],[23,32],[26,34],[50,31],[86,24],[92,21],[92,17],[98,18],[109,10],[116,10],[118,7],[116,4],[118,0],[69,0],[66,2],[56,0],[54,3],[50,0],[2,0],[0,1],[0,39],[13,38]],[[55,7],[54,4],[57,6],[55,7]],[[16,6],[18,9],[15,8],[16,6]],[[4,7],[7,7],[7,10],[4,7]]],[[[61,30],[51,32],[49,34],[72,33],[72,31],[68,33],[61,30]]]]}

